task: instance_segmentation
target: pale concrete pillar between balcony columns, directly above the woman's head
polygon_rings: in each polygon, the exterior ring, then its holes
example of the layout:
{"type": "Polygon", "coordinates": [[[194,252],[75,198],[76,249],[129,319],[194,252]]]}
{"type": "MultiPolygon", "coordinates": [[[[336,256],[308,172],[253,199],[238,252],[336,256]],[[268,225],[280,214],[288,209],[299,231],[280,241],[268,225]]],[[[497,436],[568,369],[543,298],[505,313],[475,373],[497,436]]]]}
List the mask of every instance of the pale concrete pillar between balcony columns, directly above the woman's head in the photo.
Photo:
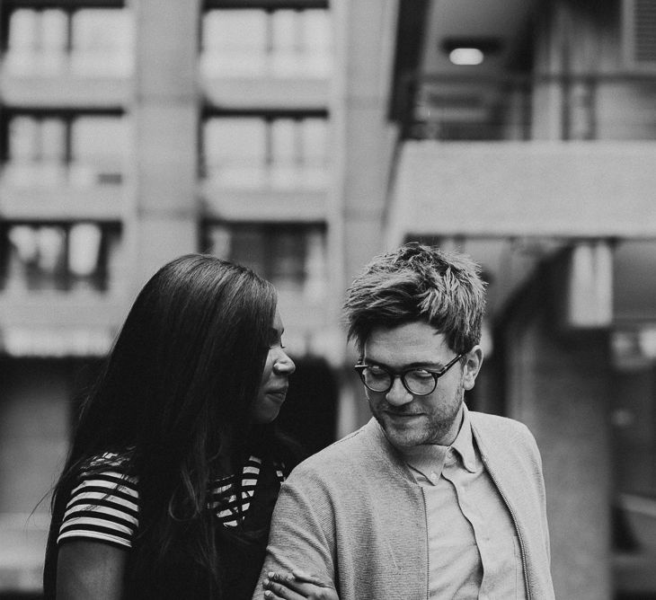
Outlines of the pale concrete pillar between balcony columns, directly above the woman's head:
{"type": "Polygon", "coordinates": [[[199,0],[134,0],[135,286],[198,249],[199,0]]]}

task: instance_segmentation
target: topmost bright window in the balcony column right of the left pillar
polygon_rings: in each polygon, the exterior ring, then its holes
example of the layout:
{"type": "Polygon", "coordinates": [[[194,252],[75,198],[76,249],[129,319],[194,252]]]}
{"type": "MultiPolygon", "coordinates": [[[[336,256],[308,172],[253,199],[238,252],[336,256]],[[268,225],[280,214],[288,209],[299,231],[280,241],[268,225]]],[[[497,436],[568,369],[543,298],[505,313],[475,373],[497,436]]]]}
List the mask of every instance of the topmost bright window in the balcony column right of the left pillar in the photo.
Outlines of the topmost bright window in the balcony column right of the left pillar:
{"type": "Polygon", "coordinates": [[[324,9],[210,10],[202,18],[206,76],[325,77],[332,63],[324,9]]]}

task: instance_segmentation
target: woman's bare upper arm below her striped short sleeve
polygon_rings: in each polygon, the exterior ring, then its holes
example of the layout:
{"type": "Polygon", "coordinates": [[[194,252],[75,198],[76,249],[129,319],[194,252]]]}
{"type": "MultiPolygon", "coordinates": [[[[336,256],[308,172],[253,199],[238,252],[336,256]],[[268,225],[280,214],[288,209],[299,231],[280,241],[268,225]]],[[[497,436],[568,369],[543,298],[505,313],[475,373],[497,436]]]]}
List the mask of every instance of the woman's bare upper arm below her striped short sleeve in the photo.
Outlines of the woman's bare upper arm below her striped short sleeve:
{"type": "Polygon", "coordinates": [[[58,600],[120,600],[128,552],[108,543],[62,543],[57,561],[58,600]]]}

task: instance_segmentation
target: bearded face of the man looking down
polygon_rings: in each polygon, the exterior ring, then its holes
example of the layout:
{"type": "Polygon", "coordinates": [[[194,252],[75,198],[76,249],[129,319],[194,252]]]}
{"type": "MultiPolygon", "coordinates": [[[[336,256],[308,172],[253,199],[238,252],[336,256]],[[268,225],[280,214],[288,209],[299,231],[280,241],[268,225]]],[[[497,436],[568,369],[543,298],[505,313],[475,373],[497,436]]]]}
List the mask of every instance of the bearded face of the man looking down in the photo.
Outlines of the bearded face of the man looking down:
{"type": "MultiPolygon", "coordinates": [[[[444,334],[427,322],[409,322],[392,329],[377,328],[364,345],[363,363],[383,366],[396,373],[409,368],[439,370],[456,356],[444,334]]],[[[369,406],[390,443],[403,450],[421,444],[448,446],[457,437],[465,390],[483,362],[476,346],[439,377],[435,390],[426,396],[408,392],[400,377],[388,392],[366,389],[369,406]]]]}

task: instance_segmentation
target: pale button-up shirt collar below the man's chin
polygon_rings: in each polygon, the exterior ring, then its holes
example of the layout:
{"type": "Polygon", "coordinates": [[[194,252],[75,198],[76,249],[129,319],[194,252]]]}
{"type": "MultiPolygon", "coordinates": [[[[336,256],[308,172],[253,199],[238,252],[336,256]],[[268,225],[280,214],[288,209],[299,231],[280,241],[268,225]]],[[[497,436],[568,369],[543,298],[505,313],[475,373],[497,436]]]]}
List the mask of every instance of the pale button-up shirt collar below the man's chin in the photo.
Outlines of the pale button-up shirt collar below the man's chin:
{"type": "Polygon", "coordinates": [[[412,469],[421,472],[427,479],[435,474],[439,478],[442,474],[444,464],[447,462],[448,450],[453,448],[460,456],[461,462],[469,472],[476,470],[476,454],[474,452],[474,438],[472,437],[472,424],[469,419],[469,411],[463,402],[463,422],[457,437],[451,446],[439,446],[439,444],[422,444],[403,450],[403,460],[412,469]]]}

